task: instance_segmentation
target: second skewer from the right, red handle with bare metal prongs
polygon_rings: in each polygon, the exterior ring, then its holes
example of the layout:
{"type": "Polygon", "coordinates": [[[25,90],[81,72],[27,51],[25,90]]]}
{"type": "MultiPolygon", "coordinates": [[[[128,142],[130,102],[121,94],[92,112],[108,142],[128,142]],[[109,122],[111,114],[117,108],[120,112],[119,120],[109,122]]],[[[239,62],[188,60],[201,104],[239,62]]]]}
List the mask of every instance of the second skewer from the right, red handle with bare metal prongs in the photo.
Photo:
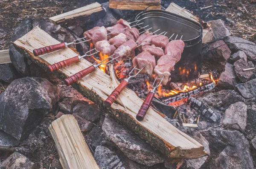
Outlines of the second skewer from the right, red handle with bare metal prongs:
{"type": "Polygon", "coordinates": [[[122,92],[122,90],[128,85],[128,82],[129,82],[129,79],[131,79],[132,77],[135,77],[137,76],[137,74],[140,73],[140,71],[144,68],[141,68],[141,69],[138,69],[136,68],[138,65],[136,65],[132,70],[131,72],[129,73],[129,76],[128,78],[126,79],[123,79],[122,82],[115,88],[115,90],[113,90],[113,92],[108,96],[108,98],[104,101],[104,104],[106,107],[111,107],[111,105],[113,104],[114,101],[116,101],[116,98],[119,96],[119,94],[122,92]],[[131,73],[134,71],[134,70],[138,70],[138,72],[131,76],[131,73]]]}

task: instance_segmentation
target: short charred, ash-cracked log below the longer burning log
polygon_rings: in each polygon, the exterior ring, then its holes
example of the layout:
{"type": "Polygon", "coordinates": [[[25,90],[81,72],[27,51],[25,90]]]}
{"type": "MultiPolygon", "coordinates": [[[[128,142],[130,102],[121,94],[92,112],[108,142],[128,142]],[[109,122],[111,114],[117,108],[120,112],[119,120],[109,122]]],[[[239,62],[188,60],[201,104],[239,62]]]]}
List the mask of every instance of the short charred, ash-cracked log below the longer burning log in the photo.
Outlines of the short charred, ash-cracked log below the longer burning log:
{"type": "Polygon", "coordinates": [[[188,99],[188,104],[191,108],[195,109],[198,111],[198,113],[204,115],[206,118],[214,122],[218,120],[218,116],[214,113],[214,111],[201,101],[198,101],[197,99],[190,96],[188,99]]]}

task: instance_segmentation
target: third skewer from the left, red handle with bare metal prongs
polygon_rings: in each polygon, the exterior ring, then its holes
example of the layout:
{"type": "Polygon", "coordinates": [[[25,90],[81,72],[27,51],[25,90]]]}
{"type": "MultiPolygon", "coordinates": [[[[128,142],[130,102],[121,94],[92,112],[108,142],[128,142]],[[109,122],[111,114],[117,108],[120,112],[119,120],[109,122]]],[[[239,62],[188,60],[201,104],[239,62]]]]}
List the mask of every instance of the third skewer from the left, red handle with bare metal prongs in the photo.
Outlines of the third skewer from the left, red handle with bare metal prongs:
{"type": "Polygon", "coordinates": [[[114,59],[116,59],[116,58],[119,57],[119,56],[117,56],[117,57],[115,57],[115,58],[112,58],[112,56],[114,56],[114,54],[111,55],[111,56],[109,56],[109,57],[107,57],[106,59],[103,59],[98,65],[91,65],[91,66],[89,66],[88,68],[86,68],[86,69],[84,69],[84,70],[81,70],[80,72],[78,72],[78,73],[76,73],[76,74],[70,76],[69,78],[65,79],[65,84],[66,84],[67,86],[69,86],[69,85],[71,85],[72,83],[74,83],[74,82],[76,82],[76,81],[82,79],[82,78],[83,78],[84,76],[86,76],[87,74],[93,72],[98,66],[108,64],[109,62],[111,62],[111,61],[113,61],[114,59]],[[110,61],[103,63],[105,60],[110,59],[110,58],[111,58],[110,61]]]}

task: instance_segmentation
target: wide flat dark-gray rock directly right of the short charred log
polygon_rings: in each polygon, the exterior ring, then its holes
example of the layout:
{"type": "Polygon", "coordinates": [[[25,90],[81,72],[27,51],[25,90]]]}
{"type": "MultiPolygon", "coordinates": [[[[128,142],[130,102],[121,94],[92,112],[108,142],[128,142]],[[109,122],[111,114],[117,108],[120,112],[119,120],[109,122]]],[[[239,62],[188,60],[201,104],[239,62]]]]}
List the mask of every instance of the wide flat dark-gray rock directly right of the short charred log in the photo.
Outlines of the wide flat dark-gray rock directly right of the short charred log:
{"type": "Polygon", "coordinates": [[[213,107],[215,111],[221,111],[221,113],[223,113],[230,104],[245,101],[245,99],[234,90],[221,90],[216,93],[203,93],[202,95],[195,96],[195,98],[213,107]]]}

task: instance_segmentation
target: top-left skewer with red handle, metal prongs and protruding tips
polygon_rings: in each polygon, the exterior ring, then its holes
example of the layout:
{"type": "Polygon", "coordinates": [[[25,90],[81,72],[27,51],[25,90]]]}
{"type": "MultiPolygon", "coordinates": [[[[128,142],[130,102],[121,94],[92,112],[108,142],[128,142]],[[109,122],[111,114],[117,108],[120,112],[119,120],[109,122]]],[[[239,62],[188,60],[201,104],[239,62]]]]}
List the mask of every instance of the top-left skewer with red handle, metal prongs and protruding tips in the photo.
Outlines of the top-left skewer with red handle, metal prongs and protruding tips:
{"type": "MultiPolygon", "coordinates": [[[[134,22],[132,22],[132,23],[134,23],[134,22]]],[[[141,24],[143,24],[143,23],[138,23],[137,25],[141,25],[141,24]]],[[[133,25],[131,27],[134,27],[134,26],[137,26],[137,25],[133,25]]],[[[109,34],[107,34],[107,35],[109,35],[109,34]]],[[[49,45],[49,46],[45,46],[43,48],[34,49],[33,54],[35,56],[40,56],[40,55],[43,55],[43,54],[48,54],[48,53],[51,53],[51,52],[54,52],[54,51],[57,51],[57,50],[60,50],[60,49],[67,48],[67,46],[71,45],[71,44],[76,45],[76,44],[83,43],[83,42],[88,42],[88,41],[91,40],[91,39],[86,40],[85,38],[86,37],[75,39],[75,40],[73,40],[73,42],[70,42],[70,43],[62,42],[62,43],[59,43],[59,44],[49,45]],[[79,42],[79,40],[82,40],[82,41],[79,42]]]]}

